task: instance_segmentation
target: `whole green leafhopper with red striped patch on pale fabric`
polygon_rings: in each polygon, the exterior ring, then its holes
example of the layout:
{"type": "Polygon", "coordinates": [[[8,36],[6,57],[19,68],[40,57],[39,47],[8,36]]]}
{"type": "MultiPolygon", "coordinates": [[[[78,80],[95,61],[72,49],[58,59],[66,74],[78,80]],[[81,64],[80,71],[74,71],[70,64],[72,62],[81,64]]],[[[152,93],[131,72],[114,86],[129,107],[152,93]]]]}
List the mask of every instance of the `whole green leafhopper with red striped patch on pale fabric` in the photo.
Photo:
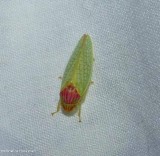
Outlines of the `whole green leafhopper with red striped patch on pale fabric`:
{"type": "Polygon", "coordinates": [[[62,77],[60,99],[54,115],[62,109],[65,115],[72,115],[78,111],[81,122],[81,105],[86,98],[93,70],[93,46],[88,34],[79,40],[62,77]]]}

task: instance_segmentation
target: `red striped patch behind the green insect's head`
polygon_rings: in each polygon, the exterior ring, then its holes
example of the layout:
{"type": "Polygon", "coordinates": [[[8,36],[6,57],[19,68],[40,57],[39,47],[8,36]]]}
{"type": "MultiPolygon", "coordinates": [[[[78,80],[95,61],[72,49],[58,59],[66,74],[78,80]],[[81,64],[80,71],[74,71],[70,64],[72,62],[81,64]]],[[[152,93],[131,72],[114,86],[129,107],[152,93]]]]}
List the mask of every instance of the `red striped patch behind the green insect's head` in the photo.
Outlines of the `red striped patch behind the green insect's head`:
{"type": "Polygon", "coordinates": [[[72,84],[64,88],[60,92],[60,96],[66,104],[74,104],[80,98],[77,89],[72,84]]]}

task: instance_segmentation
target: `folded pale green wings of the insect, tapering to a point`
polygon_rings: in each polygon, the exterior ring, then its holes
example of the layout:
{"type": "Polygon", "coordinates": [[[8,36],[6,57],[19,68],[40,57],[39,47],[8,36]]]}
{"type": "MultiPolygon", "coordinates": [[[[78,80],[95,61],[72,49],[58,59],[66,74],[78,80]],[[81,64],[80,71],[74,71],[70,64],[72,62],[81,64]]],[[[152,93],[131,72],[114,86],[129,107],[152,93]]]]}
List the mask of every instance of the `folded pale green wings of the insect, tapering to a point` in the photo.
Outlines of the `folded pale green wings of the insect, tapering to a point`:
{"type": "Polygon", "coordinates": [[[88,89],[93,69],[93,47],[89,35],[84,34],[78,42],[66,66],[61,89],[73,83],[80,95],[88,89]]]}

